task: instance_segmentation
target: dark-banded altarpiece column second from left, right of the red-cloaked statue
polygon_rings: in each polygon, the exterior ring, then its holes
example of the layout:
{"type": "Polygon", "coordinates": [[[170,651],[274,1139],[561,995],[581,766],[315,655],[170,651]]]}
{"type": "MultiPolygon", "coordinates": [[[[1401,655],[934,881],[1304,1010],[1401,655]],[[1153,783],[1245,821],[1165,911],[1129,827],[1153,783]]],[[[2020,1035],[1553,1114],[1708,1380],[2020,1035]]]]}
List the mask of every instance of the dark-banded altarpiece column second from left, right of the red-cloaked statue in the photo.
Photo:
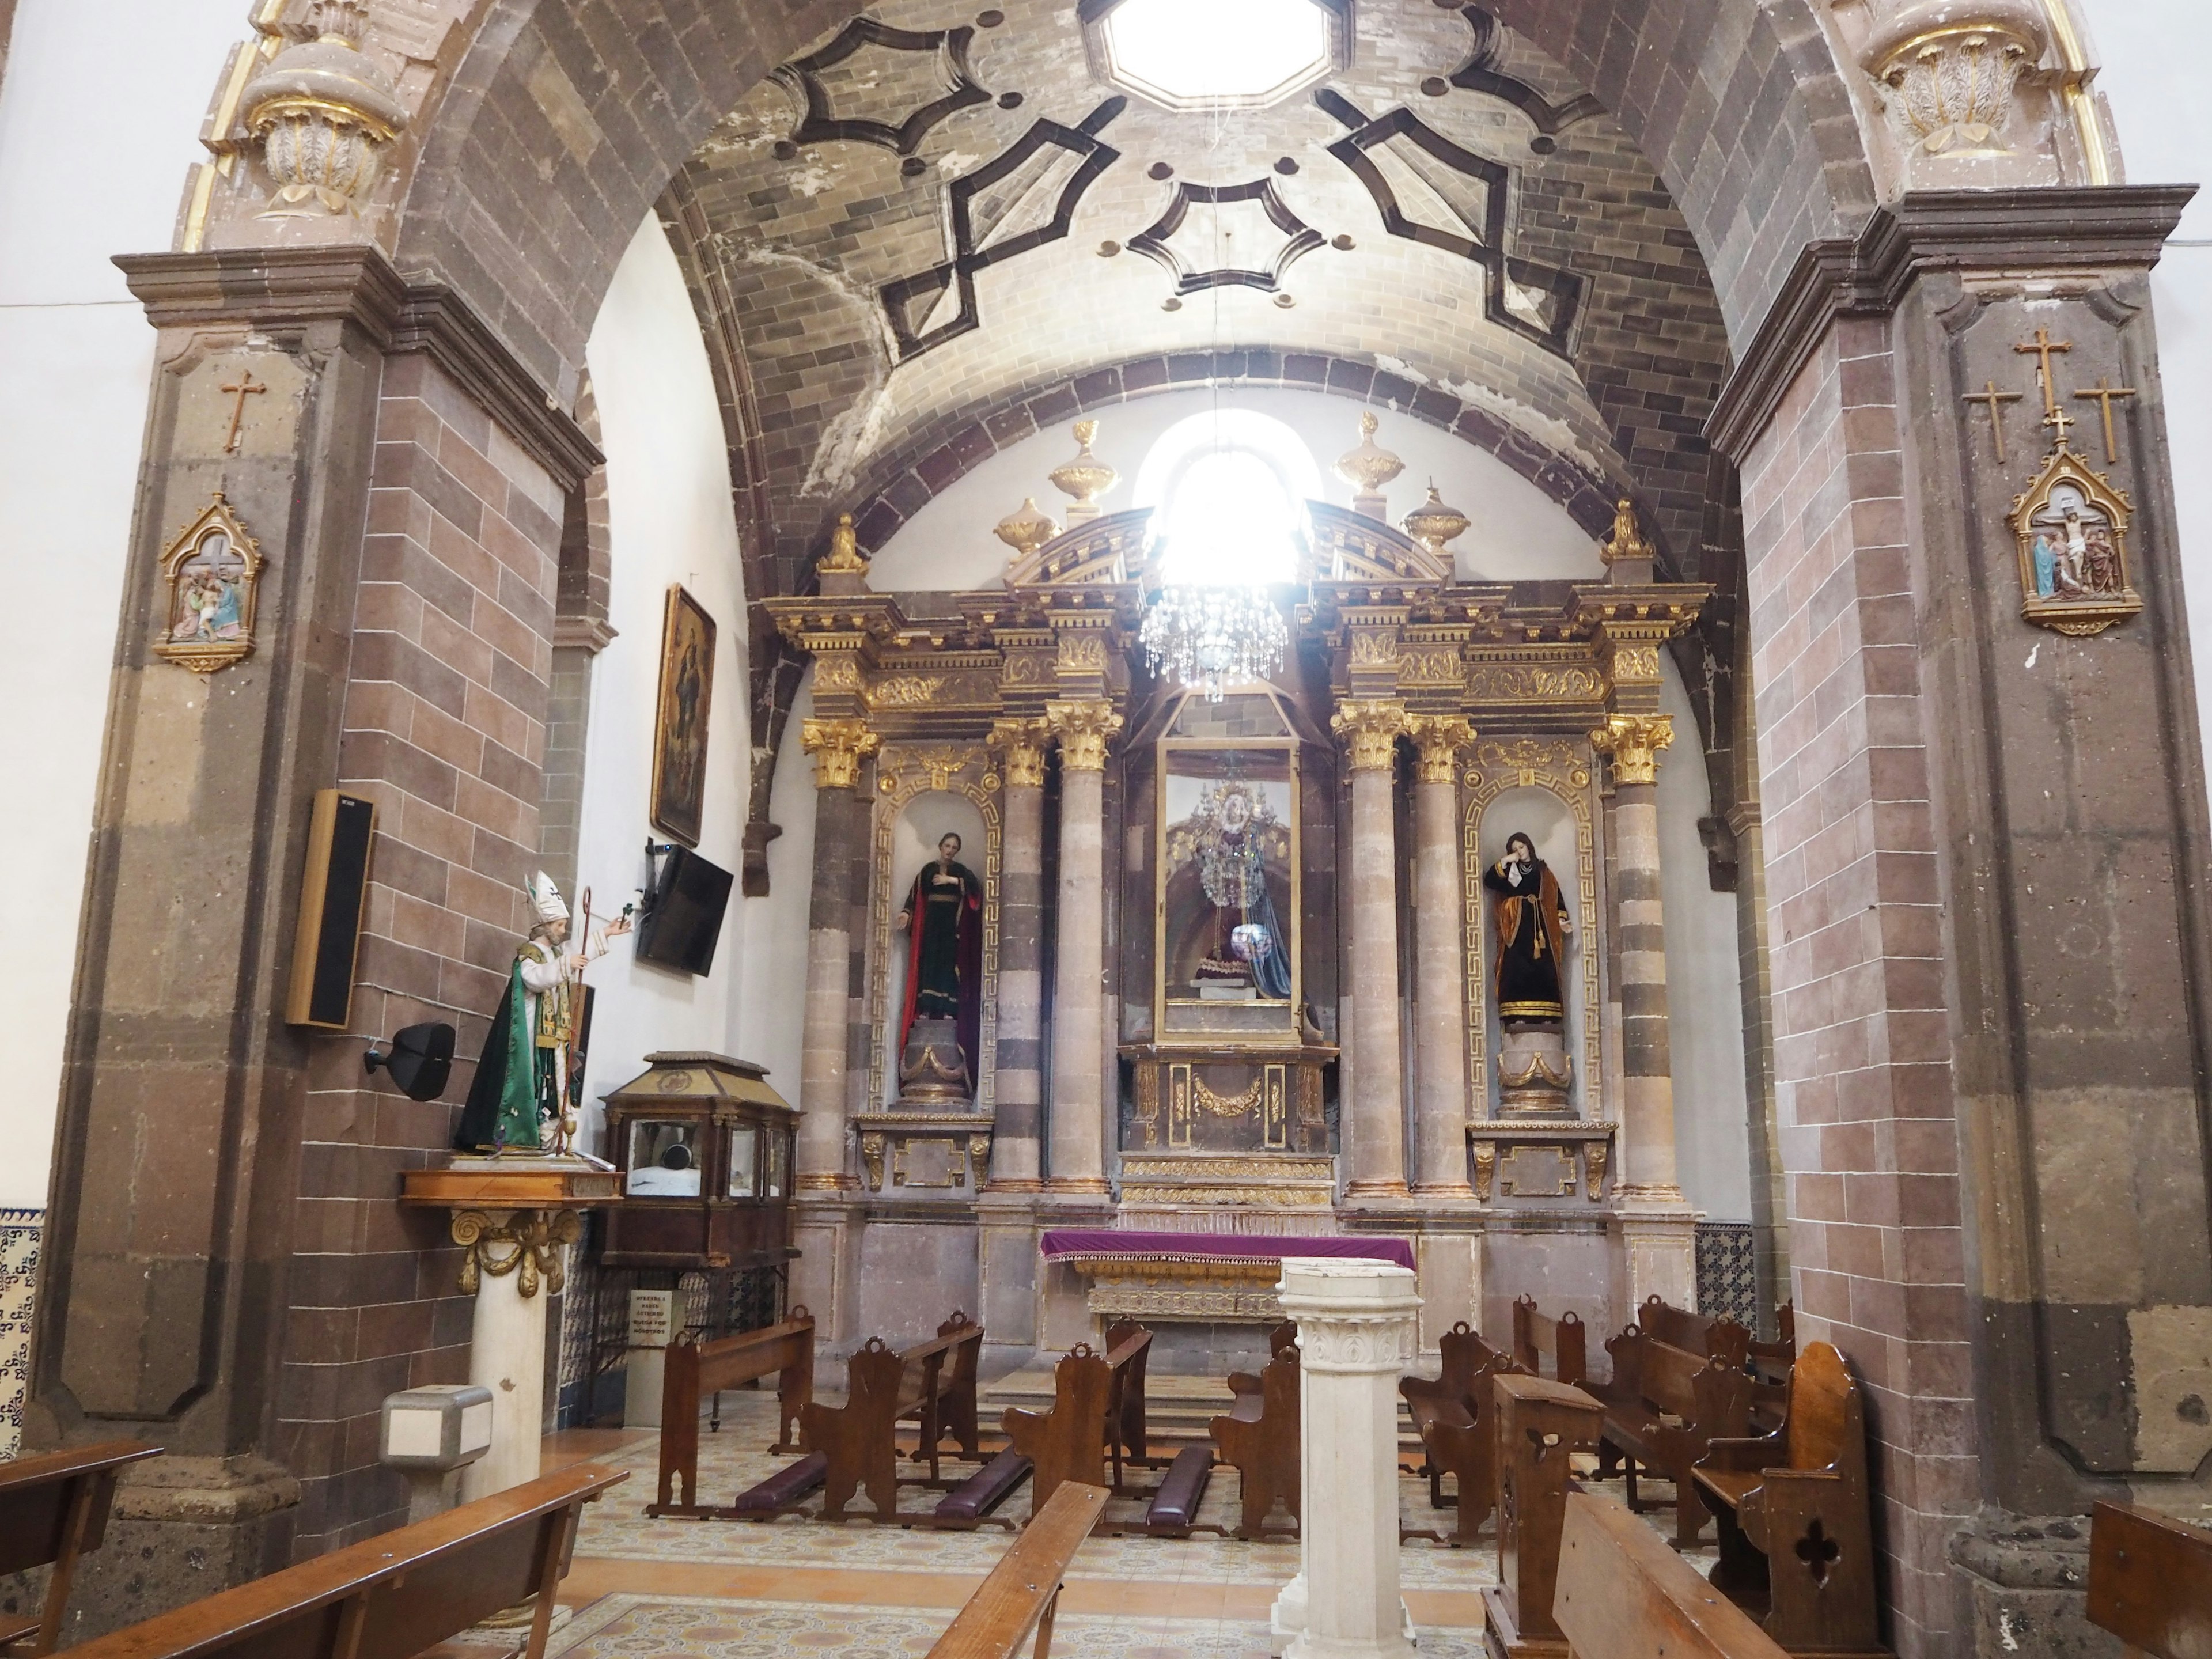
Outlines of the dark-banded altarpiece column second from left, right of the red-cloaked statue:
{"type": "Polygon", "coordinates": [[[1044,745],[1042,719],[991,728],[1006,827],[998,900],[998,1084],[991,1186],[1040,1186],[1044,1102],[1044,745]]]}

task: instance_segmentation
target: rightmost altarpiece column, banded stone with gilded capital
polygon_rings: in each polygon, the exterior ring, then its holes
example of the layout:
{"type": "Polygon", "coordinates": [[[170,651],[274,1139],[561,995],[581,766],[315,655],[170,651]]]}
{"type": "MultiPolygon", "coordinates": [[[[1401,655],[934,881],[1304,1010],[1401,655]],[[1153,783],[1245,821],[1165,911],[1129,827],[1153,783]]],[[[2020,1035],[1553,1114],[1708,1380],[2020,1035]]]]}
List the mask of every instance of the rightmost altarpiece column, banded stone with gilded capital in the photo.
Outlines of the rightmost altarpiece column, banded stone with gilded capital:
{"type": "Polygon", "coordinates": [[[1697,1305],[1694,1217],[1674,1179],[1674,1071],[1659,902],[1659,750],[1670,714],[1610,714],[1590,743],[1613,763],[1613,925],[1621,995],[1621,1208],[1628,1307],[1697,1305]]]}

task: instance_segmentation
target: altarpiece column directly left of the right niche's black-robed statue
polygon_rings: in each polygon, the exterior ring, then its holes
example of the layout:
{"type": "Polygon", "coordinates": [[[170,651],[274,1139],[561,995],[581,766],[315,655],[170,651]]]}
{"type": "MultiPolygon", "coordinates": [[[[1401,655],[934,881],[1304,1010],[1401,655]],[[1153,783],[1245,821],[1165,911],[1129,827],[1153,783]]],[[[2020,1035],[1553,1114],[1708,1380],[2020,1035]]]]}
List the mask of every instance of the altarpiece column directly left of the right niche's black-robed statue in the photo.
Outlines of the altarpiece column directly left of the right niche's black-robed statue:
{"type": "Polygon", "coordinates": [[[1458,754],[1475,741],[1458,714],[1416,714],[1413,960],[1420,973],[1418,1181],[1422,1197],[1471,1199],[1467,1183],[1467,938],[1460,880],[1458,754]]]}

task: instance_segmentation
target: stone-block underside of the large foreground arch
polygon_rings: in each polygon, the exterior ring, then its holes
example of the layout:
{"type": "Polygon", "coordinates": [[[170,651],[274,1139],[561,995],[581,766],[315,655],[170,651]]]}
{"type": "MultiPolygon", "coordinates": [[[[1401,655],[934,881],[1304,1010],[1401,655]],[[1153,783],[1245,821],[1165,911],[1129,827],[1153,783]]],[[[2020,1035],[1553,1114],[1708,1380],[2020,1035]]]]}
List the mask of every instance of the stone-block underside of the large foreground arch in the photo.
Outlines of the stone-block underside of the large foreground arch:
{"type": "MultiPolygon", "coordinates": [[[[465,49],[407,181],[400,265],[453,283],[566,396],[599,294],[655,197],[754,82],[854,11],[849,0],[504,0],[465,49]]],[[[1739,345],[1798,248],[1847,234],[1874,208],[1849,91],[1809,0],[1504,0],[1498,13],[1644,146],[1739,345]],[[1790,206],[1756,217],[1754,201],[1790,206]]]]}

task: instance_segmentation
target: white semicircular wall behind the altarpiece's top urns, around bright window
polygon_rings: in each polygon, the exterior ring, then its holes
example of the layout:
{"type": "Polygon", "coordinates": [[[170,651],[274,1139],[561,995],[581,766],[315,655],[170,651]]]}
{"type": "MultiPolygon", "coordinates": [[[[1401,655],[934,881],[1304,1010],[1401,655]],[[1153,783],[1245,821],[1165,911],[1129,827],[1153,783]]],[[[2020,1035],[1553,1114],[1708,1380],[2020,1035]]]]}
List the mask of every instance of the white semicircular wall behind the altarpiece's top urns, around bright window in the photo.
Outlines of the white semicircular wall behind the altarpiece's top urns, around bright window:
{"type": "MultiPolygon", "coordinates": [[[[1305,440],[1321,467],[1323,500],[1336,507],[1352,504],[1352,487],[1336,476],[1334,465],[1340,453],[1358,447],[1365,405],[1325,392],[1274,389],[1223,392],[1217,400],[1206,387],[1192,387],[1117,403],[1095,416],[1099,434],[1091,449],[1121,473],[1099,507],[1110,513],[1139,507],[1133,491],[1152,440],[1177,420],[1217,403],[1223,409],[1256,409],[1285,422],[1305,440]]],[[[1420,507],[1431,478],[1444,500],[1473,520],[1473,529],[1453,544],[1460,575],[1535,582],[1595,580],[1606,573],[1597,542],[1498,456],[1413,416],[1387,409],[1376,414],[1383,418],[1376,442],[1405,460],[1405,471],[1387,491],[1391,522],[1420,507]]],[[[991,456],[922,507],[876,553],[872,586],[883,593],[995,588],[1004,577],[1009,549],[991,535],[991,526],[1013,513],[1024,495],[1033,495],[1040,509],[1064,522],[1068,498],[1053,489],[1046,473],[1073,456],[1075,440],[1066,427],[1040,431],[991,456]]]]}

